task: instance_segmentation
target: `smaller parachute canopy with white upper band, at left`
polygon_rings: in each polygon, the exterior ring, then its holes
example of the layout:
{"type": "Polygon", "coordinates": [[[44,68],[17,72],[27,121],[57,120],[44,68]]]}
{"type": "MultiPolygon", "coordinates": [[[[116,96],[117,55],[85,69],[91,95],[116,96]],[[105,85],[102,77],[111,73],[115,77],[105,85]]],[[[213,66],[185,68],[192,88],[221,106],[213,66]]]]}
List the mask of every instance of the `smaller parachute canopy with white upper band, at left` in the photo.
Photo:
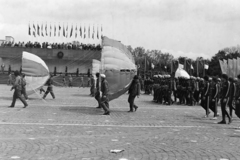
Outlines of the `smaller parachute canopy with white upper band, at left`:
{"type": "Polygon", "coordinates": [[[25,51],[22,54],[22,73],[26,75],[28,95],[42,87],[50,77],[45,62],[40,57],[25,51]]]}

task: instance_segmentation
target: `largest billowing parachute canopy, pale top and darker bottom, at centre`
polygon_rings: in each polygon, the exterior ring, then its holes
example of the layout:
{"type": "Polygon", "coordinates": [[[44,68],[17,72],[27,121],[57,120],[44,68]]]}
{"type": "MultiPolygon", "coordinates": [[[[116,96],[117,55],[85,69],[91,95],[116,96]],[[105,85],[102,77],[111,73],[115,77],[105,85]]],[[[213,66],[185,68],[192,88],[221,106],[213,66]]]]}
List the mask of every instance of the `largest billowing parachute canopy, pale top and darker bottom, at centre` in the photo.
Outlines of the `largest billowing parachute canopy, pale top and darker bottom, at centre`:
{"type": "Polygon", "coordinates": [[[132,53],[119,41],[103,37],[102,46],[100,70],[106,75],[112,100],[128,90],[137,69],[132,53]]]}

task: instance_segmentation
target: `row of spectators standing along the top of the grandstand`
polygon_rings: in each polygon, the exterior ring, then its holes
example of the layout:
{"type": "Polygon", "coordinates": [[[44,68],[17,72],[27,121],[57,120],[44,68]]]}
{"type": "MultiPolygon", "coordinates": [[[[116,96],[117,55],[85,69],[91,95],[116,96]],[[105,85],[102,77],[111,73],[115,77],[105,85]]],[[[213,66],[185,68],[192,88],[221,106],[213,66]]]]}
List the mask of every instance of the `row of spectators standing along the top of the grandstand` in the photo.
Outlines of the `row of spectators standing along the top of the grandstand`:
{"type": "Polygon", "coordinates": [[[18,42],[14,43],[11,41],[2,42],[0,44],[1,47],[25,47],[25,48],[48,48],[48,49],[68,49],[68,50],[101,50],[102,47],[100,44],[83,44],[83,43],[49,43],[43,42],[42,44],[39,42],[18,42]]]}

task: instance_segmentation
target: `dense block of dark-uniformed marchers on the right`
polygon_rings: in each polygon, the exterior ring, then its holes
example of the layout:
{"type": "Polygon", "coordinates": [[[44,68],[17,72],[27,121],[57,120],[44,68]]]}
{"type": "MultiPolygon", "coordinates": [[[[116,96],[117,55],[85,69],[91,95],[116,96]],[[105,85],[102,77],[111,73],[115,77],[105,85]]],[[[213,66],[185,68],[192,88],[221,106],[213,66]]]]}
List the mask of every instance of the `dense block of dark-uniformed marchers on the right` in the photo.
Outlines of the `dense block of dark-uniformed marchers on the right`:
{"type": "Polygon", "coordinates": [[[151,80],[152,86],[148,88],[152,88],[153,101],[157,103],[168,105],[178,103],[189,106],[200,104],[206,111],[206,117],[210,114],[210,110],[213,111],[213,119],[219,116],[217,106],[220,103],[223,114],[221,123],[225,124],[225,115],[231,123],[233,110],[239,104],[239,79],[240,76],[233,79],[226,74],[223,74],[222,78],[208,76],[173,78],[170,75],[155,75],[151,80]],[[227,106],[229,113],[226,111],[227,106]]]}

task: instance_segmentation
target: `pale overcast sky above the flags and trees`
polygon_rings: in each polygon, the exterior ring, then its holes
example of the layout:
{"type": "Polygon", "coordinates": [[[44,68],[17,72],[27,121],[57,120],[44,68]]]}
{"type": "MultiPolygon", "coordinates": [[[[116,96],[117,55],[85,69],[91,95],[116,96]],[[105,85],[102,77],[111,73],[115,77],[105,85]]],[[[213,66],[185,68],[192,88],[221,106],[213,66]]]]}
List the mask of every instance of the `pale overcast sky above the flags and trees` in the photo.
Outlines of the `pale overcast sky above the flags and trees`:
{"type": "Polygon", "coordinates": [[[134,48],[211,58],[239,44],[240,1],[0,0],[0,39],[30,40],[33,22],[102,26],[105,36],[134,48]]]}

